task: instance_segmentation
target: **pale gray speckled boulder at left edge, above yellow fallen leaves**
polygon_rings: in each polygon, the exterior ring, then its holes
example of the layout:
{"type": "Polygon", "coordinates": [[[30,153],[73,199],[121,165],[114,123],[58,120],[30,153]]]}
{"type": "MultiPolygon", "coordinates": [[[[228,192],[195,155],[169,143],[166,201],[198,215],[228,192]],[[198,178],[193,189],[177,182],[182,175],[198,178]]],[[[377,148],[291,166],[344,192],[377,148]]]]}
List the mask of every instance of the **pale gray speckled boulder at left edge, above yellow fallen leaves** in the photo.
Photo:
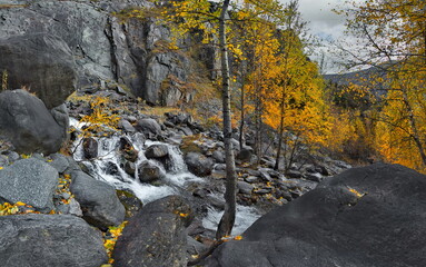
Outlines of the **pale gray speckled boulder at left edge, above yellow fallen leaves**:
{"type": "Polygon", "coordinates": [[[58,171],[41,160],[18,160],[0,170],[0,198],[50,211],[53,209],[52,198],[58,178],[58,171]]]}

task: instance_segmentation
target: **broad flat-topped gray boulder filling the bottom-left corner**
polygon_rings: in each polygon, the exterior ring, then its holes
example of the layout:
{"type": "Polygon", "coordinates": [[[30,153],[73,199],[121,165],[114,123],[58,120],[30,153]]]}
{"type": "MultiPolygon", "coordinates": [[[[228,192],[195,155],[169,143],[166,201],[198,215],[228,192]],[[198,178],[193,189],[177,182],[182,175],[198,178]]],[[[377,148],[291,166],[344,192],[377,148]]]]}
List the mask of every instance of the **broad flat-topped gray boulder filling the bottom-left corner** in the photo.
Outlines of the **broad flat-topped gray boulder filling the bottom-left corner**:
{"type": "Polygon", "coordinates": [[[102,235],[70,215],[0,216],[0,263],[7,267],[99,267],[102,235]]]}

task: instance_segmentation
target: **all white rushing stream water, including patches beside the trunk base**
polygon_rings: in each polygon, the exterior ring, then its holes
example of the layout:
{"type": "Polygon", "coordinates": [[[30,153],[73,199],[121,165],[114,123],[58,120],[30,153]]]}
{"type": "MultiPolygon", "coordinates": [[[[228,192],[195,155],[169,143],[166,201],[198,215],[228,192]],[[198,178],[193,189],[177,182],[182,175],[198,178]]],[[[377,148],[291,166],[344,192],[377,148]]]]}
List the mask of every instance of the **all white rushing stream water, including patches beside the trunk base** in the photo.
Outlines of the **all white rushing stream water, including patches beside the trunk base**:
{"type": "MultiPolygon", "coordinates": [[[[76,119],[70,119],[70,125],[77,129],[80,129],[83,125],[77,121],[76,119]]],[[[98,141],[98,157],[92,160],[86,160],[83,156],[83,148],[81,146],[81,139],[75,141],[75,154],[73,158],[76,161],[83,162],[91,175],[107,184],[113,186],[117,189],[129,189],[131,190],[136,197],[138,197],[143,204],[153,201],[156,199],[160,199],[162,197],[179,194],[178,188],[185,188],[185,185],[189,181],[192,182],[205,182],[204,179],[190,174],[185,164],[181,151],[177,146],[172,146],[165,142],[159,141],[150,141],[147,140],[143,142],[145,138],[139,136],[141,134],[135,135],[119,135],[116,134],[110,137],[101,137],[97,138],[98,141]],[[169,171],[166,171],[165,167],[157,162],[156,160],[150,160],[150,162],[158,166],[161,171],[165,174],[165,178],[162,179],[162,185],[152,186],[150,184],[140,182],[136,177],[138,177],[138,168],[136,168],[136,174],[133,177],[129,176],[121,167],[120,167],[120,154],[119,154],[119,141],[120,138],[127,137],[135,149],[139,151],[138,159],[136,161],[136,166],[141,164],[145,160],[148,160],[145,156],[145,150],[152,145],[166,145],[168,148],[169,157],[171,159],[171,166],[169,171]],[[110,175],[108,174],[108,168],[115,165],[117,167],[117,174],[110,175]]],[[[219,195],[215,195],[217,198],[222,198],[219,195]]],[[[208,208],[208,215],[202,220],[202,225],[208,228],[215,230],[220,220],[224,211],[218,211],[215,208],[208,208]]],[[[237,217],[236,225],[234,227],[232,234],[239,235],[245,229],[247,229],[256,219],[258,219],[260,215],[252,207],[246,207],[237,205],[237,217]]]]}

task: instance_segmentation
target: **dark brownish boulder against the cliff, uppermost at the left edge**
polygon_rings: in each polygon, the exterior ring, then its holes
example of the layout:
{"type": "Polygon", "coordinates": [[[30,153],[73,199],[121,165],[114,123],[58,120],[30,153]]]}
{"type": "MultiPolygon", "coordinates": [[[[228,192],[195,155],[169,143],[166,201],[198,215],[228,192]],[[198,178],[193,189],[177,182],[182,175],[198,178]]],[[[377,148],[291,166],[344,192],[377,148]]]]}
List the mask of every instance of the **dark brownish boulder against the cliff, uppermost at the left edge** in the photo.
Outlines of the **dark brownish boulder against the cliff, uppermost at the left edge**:
{"type": "Polygon", "coordinates": [[[76,90],[76,63],[68,44],[48,33],[0,39],[0,72],[8,73],[8,88],[26,87],[48,109],[65,102],[76,90]]]}

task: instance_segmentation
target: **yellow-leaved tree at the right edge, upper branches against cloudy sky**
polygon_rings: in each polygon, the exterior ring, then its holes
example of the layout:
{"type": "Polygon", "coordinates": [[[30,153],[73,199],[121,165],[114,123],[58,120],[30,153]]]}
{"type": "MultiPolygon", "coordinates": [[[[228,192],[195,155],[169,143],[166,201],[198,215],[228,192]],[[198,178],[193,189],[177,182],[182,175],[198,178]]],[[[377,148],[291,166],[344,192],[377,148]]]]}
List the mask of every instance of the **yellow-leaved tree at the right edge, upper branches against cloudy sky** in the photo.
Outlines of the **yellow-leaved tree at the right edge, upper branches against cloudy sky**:
{"type": "Polygon", "coordinates": [[[425,171],[426,2],[367,0],[349,2],[348,29],[361,43],[354,62],[386,72],[377,119],[376,146],[390,162],[425,171]]]}

